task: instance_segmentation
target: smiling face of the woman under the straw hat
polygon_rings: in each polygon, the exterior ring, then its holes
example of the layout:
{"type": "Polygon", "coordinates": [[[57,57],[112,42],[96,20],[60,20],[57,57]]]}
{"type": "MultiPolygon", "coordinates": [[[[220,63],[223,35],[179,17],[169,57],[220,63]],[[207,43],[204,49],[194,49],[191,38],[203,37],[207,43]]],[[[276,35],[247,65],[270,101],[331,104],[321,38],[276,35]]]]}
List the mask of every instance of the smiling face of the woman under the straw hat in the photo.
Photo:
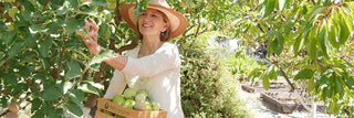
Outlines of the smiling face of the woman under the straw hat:
{"type": "Polygon", "coordinates": [[[160,35],[168,26],[160,11],[147,9],[138,17],[138,28],[143,35],[160,35]]]}

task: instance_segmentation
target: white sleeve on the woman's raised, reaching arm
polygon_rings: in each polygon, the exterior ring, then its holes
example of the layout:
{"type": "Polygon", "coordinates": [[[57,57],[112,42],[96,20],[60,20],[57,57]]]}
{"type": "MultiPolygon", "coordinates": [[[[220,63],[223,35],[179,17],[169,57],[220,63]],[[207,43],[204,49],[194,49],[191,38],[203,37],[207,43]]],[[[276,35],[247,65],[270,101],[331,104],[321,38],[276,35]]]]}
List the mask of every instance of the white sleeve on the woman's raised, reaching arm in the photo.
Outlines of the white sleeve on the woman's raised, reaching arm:
{"type": "Polygon", "coordinates": [[[164,71],[179,67],[179,65],[178,49],[176,45],[169,44],[142,58],[128,57],[122,72],[133,76],[152,77],[164,71]]]}

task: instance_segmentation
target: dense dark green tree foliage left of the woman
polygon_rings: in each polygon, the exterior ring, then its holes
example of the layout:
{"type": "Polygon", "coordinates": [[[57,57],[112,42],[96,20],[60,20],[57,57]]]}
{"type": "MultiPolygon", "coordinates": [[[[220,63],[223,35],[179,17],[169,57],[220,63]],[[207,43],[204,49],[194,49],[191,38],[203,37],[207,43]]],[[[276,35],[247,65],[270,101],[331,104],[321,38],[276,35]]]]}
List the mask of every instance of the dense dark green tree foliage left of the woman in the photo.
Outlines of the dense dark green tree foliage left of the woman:
{"type": "MultiPolygon", "coordinates": [[[[116,1],[1,1],[1,105],[6,106],[8,99],[29,101],[33,117],[41,118],[59,117],[66,109],[81,116],[79,105],[86,93],[100,95],[102,87],[96,86],[100,81],[94,79],[94,69],[88,69],[92,57],[75,31],[82,31],[86,18],[93,18],[100,25],[101,45],[108,49],[110,43],[129,39],[129,33],[116,34],[129,28],[116,30],[110,13],[115,7],[106,7],[112,4],[116,1]]],[[[113,73],[110,67],[106,71],[104,79],[113,73]]]]}

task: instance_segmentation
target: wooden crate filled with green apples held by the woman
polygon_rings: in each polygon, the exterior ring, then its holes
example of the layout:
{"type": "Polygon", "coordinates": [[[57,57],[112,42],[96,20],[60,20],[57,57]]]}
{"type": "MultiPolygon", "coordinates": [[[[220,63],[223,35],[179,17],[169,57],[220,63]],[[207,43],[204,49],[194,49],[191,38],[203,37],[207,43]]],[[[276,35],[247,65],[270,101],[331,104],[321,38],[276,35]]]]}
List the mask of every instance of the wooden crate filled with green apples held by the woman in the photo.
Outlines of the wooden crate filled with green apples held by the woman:
{"type": "Polygon", "coordinates": [[[95,118],[166,118],[167,111],[144,89],[126,88],[112,99],[98,98],[95,118]]]}

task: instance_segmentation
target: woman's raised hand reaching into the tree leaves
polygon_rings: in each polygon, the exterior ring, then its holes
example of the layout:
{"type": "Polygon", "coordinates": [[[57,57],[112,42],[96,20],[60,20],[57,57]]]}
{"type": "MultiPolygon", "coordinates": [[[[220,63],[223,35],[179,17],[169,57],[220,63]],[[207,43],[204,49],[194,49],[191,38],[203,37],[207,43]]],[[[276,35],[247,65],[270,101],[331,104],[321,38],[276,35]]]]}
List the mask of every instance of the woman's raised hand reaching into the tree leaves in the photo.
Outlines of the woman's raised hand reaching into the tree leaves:
{"type": "Polygon", "coordinates": [[[85,30],[91,37],[82,35],[82,40],[86,44],[91,54],[96,55],[101,52],[101,46],[97,43],[98,26],[92,19],[88,19],[88,22],[85,23],[85,30]]]}

